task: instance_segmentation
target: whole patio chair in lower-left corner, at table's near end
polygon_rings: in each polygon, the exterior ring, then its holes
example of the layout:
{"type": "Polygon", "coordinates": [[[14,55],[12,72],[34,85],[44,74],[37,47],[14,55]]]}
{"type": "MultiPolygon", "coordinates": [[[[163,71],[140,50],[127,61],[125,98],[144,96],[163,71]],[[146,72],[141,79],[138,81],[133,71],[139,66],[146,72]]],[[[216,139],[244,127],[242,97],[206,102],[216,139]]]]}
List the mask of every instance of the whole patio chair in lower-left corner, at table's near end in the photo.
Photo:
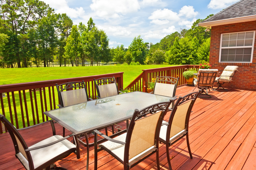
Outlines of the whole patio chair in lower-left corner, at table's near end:
{"type": "MultiPolygon", "coordinates": [[[[49,170],[54,162],[66,158],[71,153],[76,154],[77,150],[79,150],[78,141],[75,135],[66,137],[53,135],[52,137],[28,147],[18,131],[21,129],[17,130],[2,114],[0,114],[0,119],[10,133],[16,158],[27,170],[41,170],[44,168],[49,170]],[[70,138],[71,136],[73,136],[75,144],[67,140],[67,138],[70,138]]],[[[79,159],[80,155],[76,154],[76,157],[79,159]]]]}

